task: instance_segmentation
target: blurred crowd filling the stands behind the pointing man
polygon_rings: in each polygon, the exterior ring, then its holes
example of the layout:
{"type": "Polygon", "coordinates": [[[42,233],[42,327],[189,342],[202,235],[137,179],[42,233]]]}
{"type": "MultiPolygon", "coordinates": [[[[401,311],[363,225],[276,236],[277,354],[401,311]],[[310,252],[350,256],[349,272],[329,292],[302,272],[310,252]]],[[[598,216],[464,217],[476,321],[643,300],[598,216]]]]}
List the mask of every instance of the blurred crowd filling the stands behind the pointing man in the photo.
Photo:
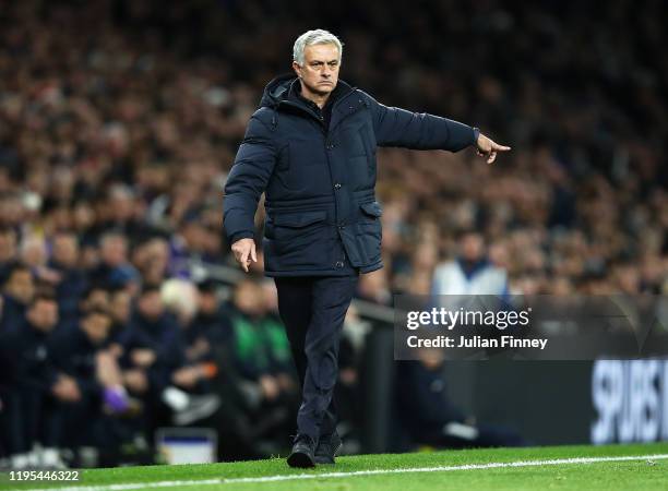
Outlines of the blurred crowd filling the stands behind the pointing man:
{"type": "MultiPolygon", "coordinates": [[[[263,85],[308,28],[342,37],[342,79],[380,101],[513,147],[493,166],[469,151],[379,151],[385,268],[361,278],[360,298],[430,291],[474,230],[472,261],[505,271],[512,294],[668,292],[666,9],[3,4],[0,454],[120,446],[208,418],[240,442],[234,457],[252,456],[289,432],[296,381],[262,261],[227,299],[189,261],[232,264],[225,177],[263,85]],[[84,417],[95,429],[67,430],[84,417]]],[[[350,386],[359,338],[342,371],[350,386]]]]}

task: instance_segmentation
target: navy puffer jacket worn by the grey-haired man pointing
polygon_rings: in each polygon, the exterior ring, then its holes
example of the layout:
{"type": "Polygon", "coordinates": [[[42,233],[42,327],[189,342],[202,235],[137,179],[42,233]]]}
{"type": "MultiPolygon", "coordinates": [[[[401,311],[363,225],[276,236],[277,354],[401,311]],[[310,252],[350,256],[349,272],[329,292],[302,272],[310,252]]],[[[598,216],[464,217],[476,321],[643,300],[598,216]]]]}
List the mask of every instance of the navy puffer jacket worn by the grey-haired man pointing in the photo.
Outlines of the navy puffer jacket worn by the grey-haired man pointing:
{"type": "Polygon", "coordinates": [[[267,276],[337,276],[382,267],[382,209],[375,201],[375,148],[457,152],[477,131],[438,116],[386,107],[339,81],[329,129],[300,98],[294,76],[264,89],[225,184],[230,243],[254,236],[266,192],[267,276]]]}

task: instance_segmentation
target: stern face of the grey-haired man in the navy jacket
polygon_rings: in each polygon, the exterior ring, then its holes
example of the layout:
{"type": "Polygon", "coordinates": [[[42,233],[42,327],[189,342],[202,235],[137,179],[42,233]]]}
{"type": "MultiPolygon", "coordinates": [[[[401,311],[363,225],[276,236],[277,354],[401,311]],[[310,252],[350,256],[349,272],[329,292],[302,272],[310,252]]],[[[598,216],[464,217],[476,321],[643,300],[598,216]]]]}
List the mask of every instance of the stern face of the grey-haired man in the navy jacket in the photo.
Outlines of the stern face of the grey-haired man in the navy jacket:
{"type": "Polygon", "coordinates": [[[338,82],[338,48],[333,44],[307,46],[303,64],[294,61],[293,69],[301,79],[302,89],[320,96],[330,94],[338,82]]]}

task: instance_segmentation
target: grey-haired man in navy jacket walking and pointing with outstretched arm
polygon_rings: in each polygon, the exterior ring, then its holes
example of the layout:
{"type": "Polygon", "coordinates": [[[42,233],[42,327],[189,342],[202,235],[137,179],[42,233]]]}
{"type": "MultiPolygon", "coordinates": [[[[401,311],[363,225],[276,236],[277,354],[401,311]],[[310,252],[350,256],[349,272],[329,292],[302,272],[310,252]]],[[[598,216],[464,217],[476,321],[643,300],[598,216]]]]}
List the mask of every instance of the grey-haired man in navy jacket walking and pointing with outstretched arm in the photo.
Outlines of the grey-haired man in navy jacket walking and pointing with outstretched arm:
{"type": "Polygon", "coordinates": [[[383,106],[338,80],[342,45],[309,31],[294,47],[297,77],[265,88],[225,185],[225,230],[248,272],[258,260],[253,217],[266,192],[264,262],[302,384],[288,465],[334,463],[341,446],[332,392],[338,338],[359,273],[382,267],[377,146],[457,152],[498,145],[465,124],[383,106]]]}

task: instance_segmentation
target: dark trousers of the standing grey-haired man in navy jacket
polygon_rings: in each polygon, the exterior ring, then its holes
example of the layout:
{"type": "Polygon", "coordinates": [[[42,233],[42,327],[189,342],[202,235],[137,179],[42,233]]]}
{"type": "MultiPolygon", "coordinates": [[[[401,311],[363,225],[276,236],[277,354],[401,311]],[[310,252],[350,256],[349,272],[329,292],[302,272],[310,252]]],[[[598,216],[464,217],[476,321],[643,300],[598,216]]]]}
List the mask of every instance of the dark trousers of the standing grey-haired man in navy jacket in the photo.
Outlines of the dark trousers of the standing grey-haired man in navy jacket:
{"type": "Polygon", "coordinates": [[[278,311],[301,382],[297,431],[314,441],[336,429],[333,393],[341,330],[358,276],[275,278],[278,311]]]}

